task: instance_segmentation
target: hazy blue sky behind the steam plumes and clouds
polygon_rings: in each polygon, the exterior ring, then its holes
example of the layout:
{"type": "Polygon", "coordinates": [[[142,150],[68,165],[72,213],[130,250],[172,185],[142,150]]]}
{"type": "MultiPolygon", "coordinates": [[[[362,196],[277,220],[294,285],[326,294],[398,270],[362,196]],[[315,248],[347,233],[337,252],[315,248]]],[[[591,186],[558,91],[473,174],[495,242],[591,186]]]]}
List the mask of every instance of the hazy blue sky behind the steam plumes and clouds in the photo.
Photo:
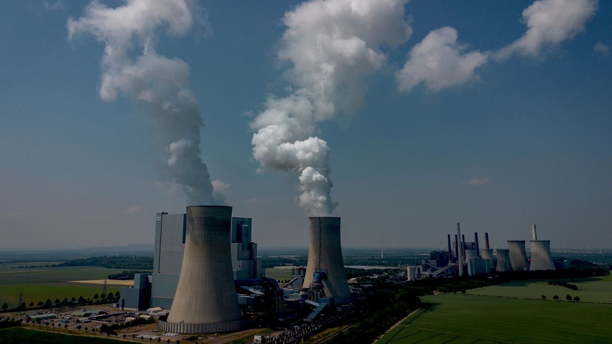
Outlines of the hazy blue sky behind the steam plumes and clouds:
{"type": "MultiPolygon", "coordinates": [[[[160,172],[165,157],[147,108],[126,94],[100,97],[104,43],[91,34],[68,39],[69,18],[86,15],[87,4],[0,4],[0,248],[152,242],[155,212],[184,211],[160,172]]],[[[329,146],[343,245],[373,245],[383,230],[395,246],[437,246],[461,222],[499,247],[529,239],[531,223],[552,247],[612,247],[612,4],[586,1],[597,9],[584,29],[579,23],[535,54],[516,48],[499,57],[525,34],[521,13],[532,4],[403,6],[412,34],[378,48],[386,62],[364,78],[362,106],[316,123],[329,146]],[[486,62],[450,86],[420,81],[402,91],[397,75],[411,51],[443,27],[455,29],[460,56],[476,52],[486,62]]],[[[265,162],[253,157],[249,125],[267,110],[267,95],[299,88],[288,77],[292,61],[278,53],[283,16],[300,8],[209,1],[198,10],[206,23],[182,36],[154,32],[157,54],[189,66],[211,179],[234,215],[253,217],[264,247],[307,245],[297,175],[256,173],[265,162]]],[[[138,54],[135,46],[130,58],[138,54]]]]}

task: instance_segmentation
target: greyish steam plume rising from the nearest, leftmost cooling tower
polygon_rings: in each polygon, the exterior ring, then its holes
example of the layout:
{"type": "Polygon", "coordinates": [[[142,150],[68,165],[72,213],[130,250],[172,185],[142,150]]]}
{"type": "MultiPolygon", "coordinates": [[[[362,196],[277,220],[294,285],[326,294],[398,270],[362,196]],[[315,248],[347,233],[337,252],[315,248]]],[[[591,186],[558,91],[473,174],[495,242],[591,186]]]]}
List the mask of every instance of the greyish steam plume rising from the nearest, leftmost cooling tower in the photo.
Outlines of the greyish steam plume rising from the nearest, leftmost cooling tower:
{"type": "Polygon", "coordinates": [[[92,1],[84,17],[68,21],[69,39],[91,34],[105,43],[100,97],[118,94],[142,103],[154,118],[163,144],[164,178],[181,185],[188,204],[222,201],[211,184],[206,163],[200,157],[200,106],[188,89],[189,66],[178,58],[155,53],[155,31],[165,29],[184,36],[201,20],[195,2],[188,0],[127,0],[118,7],[92,1]],[[141,50],[135,59],[133,50],[141,50]]]}

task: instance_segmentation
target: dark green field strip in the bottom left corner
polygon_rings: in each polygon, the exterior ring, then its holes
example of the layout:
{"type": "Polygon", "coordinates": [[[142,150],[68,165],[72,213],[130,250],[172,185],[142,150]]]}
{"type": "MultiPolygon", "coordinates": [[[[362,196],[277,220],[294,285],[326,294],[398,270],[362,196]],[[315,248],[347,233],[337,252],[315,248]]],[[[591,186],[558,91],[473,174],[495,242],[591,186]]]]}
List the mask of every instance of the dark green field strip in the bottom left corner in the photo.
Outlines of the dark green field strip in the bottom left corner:
{"type": "Polygon", "coordinates": [[[46,344],[114,344],[124,343],[119,340],[68,335],[55,332],[35,331],[21,327],[0,330],[0,343],[46,343],[46,344]]]}

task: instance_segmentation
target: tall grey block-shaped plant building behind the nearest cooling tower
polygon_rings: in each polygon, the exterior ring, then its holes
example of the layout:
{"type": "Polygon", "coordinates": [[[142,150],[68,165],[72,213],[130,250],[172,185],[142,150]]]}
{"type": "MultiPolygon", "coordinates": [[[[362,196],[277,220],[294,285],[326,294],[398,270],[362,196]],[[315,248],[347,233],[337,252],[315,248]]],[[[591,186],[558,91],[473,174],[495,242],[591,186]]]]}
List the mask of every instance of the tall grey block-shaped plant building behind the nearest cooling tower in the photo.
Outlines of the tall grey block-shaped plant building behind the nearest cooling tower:
{"type": "MultiPolygon", "coordinates": [[[[251,223],[252,219],[248,217],[232,217],[234,279],[257,279],[266,275],[261,269],[261,260],[257,259],[257,244],[251,241],[251,223]]],[[[153,272],[134,275],[133,287],[121,288],[118,307],[133,310],[160,307],[170,310],[181,274],[186,231],[186,214],[157,213],[153,272]]]]}

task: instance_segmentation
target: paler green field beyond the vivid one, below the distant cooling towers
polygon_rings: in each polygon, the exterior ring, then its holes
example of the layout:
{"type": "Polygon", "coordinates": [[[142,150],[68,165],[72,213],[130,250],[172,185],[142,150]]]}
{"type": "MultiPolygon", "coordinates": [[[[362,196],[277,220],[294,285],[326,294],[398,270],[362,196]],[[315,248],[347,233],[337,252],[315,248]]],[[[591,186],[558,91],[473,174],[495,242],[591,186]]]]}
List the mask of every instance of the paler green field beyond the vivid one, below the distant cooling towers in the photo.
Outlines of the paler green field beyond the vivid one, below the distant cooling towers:
{"type": "MultiPolygon", "coordinates": [[[[567,282],[577,285],[578,290],[571,290],[564,286],[548,285],[547,281],[524,280],[485,286],[468,290],[467,292],[468,294],[508,296],[521,299],[540,299],[542,295],[546,296],[547,299],[552,299],[554,295],[557,295],[562,300],[565,300],[565,296],[569,294],[572,297],[580,297],[581,302],[605,302],[612,304],[612,280],[610,280],[610,276],[577,279],[576,282],[567,282]]],[[[609,307],[612,307],[612,305],[609,307]]]]}

